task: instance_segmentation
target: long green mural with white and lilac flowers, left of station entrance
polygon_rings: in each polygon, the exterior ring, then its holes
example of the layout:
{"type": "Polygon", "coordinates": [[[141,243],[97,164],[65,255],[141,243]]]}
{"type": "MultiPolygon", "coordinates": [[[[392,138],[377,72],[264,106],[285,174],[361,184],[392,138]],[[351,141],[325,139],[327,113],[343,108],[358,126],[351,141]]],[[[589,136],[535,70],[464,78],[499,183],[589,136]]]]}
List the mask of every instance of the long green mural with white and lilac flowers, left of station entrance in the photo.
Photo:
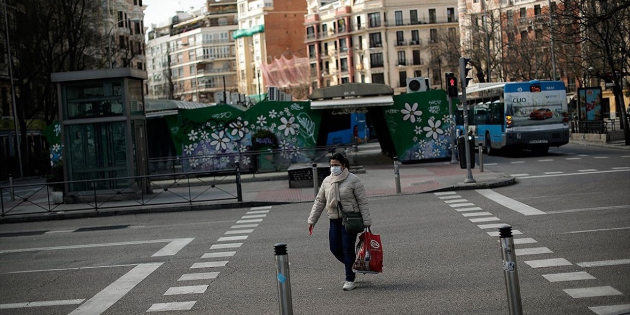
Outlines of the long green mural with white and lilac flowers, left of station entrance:
{"type": "Polygon", "coordinates": [[[281,149],[270,159],[277,165],[308,162],[297,149],[316,145],[321,114],[308,102],[264,102],[248,110],[217,105],[185,110],[167,123],[185,171],[248,169],[256,156],[246,152],[281,149]]]}

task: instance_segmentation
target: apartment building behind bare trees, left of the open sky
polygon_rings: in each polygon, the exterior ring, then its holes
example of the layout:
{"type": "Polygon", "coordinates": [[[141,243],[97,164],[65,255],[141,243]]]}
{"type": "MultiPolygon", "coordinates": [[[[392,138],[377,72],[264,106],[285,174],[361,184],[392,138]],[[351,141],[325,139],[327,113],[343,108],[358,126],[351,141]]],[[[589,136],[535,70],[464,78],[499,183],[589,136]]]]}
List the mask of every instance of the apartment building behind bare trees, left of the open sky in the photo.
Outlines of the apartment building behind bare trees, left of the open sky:
{"type": "Polygon", "coordinates": [[[144,9],[142,0],[103,0],[105,26],[109,37],[105,59],[110,68],[145,69],[144,9]]]}

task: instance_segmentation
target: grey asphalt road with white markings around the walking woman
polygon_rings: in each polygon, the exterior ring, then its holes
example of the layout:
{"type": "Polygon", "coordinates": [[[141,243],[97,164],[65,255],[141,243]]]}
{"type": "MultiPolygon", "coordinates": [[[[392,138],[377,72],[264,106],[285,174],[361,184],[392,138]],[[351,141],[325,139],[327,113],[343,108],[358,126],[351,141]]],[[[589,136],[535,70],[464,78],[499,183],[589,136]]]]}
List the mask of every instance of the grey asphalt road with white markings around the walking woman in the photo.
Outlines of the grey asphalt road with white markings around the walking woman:
{"type": "Polygon", "coordinates": [[[484,226],[503,223],[536,242],[515,245],[524,314],[630,304],[628,151],[568,145],[484,162],[517,185],[370,199],[385,269],[350,292],[326,219],[307,234],[310,203],[4,224],[0,314],[278,314],[278,242],[295,314],[507,314],[496,227],[484,226]],[[552,259],[565,265],[534,268],[552,259]],[[551,281],[565,273],[580,280],[551,281]]]}

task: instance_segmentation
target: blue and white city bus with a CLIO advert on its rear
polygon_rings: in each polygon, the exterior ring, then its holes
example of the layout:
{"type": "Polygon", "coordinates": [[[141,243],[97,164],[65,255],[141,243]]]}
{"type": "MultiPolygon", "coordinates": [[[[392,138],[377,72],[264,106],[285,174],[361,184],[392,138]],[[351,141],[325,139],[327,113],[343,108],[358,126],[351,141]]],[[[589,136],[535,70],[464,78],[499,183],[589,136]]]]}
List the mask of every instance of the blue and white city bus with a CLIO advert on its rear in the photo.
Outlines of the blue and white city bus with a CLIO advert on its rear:
{"type": "MultiPolygon", "coordinates": [[[[501,149],[545,154],[569,143],[562,81],[480,83],[466,89],[466,100],[475,142],[490,155],[501,149]]],[[[456,120],[464,124],[462,108],[456,120]]]]}

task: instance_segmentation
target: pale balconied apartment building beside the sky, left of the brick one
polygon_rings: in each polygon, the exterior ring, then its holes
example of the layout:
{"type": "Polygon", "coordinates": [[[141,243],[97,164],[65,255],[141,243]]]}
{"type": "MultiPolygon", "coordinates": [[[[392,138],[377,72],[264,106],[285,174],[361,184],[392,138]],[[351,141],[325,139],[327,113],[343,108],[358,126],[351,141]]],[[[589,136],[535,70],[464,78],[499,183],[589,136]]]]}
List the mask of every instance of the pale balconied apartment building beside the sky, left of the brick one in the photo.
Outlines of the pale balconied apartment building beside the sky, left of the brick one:
{"type": "Polygon", "coordinates": [[[215,103],[236,92],[236,0],[208,1],[154,25],[147,42],[147,98],[215,103]]]}

